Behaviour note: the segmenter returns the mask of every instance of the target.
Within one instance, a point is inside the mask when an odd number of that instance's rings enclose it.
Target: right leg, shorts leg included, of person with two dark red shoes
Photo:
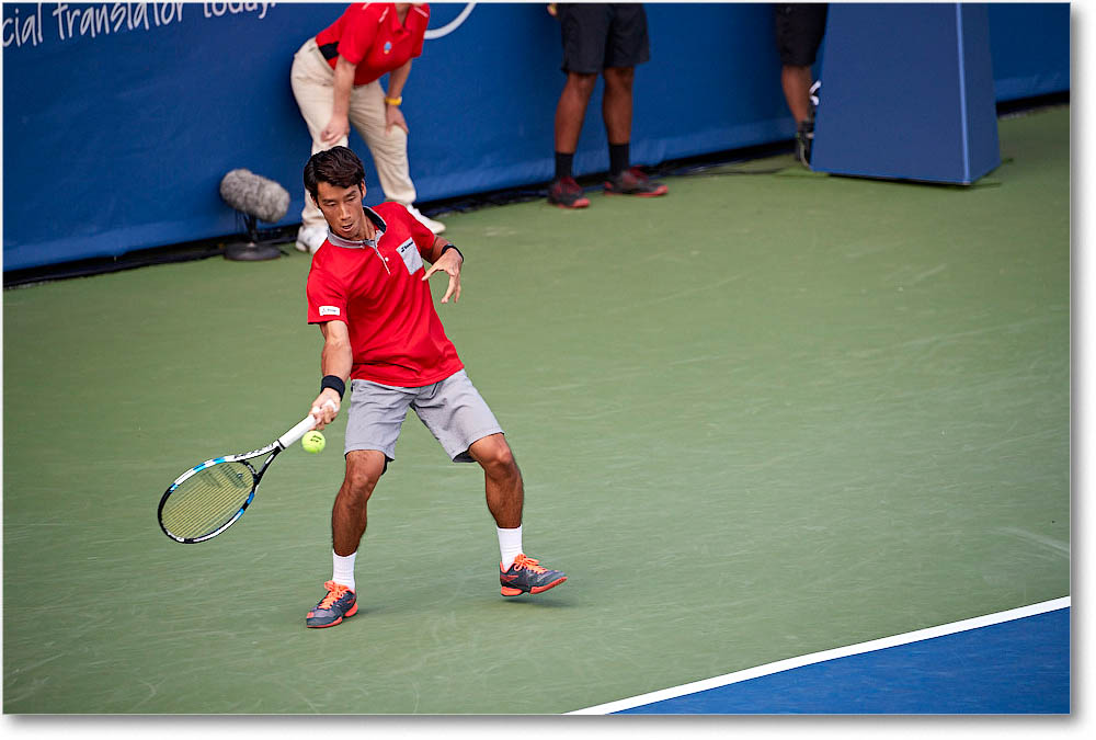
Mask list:
[[[609,144],[609,177],[605,192],[617,195],[665,195],[667,187],[653,183],[631,167],[632,87],[636,67],[651,58],[643,5],[615,4],[605,48],[605,96],[602,118]]]

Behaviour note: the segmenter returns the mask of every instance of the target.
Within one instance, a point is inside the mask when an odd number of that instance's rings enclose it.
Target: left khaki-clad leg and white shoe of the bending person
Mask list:
[[[317,48],[316,39],[309,38],[293,57],[289,84],[312,138],[313,155],[330,148],[320,141],[320,132],[331,121],[331,107],[334,104],[333,81],[334,72]],[[346,146],[346,138],[330,146],[336,145]],[[323,219],[323,214],[312,203],[308,191],[305,191],[305,207],[300,212],[297,249],[302,252],[315,252],[327,236],[328,224]]]

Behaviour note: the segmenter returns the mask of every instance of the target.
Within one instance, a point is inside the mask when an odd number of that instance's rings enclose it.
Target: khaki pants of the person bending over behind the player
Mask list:
[[[312,136],[312,153],[331,146],[346,146],[346,137],[334,145],[320,143],[320,132],[331,121],[334,104],[334,70],[320,54],[316,38],[305,42],[293,57],[289,81],[293,96],[297,99],[300,114],[308,124]],[[403,205],[415,200],[414,183],[411,182],[411,167],[408,163],[408,135],[402,128],[392,126],[385,132],[385,91],[379,81],[357,86],[350,93],[350,123],[365,140],[373,153],[377,179],[385,197]],[[368,185],[368,183],[366,183]],[[327,227],[323,214],[305,193],[305,208],[300,212],[302,226]]]

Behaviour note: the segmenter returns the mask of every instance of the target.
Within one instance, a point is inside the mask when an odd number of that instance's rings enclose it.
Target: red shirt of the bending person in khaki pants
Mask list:
[[[430,5],[411,5],[401,24],[391,2],[358,2],[316,36],[316,45],[335,68],[339,57],[352,65],[354,84],[368,84],[422,54]],[[324,49],[328,46],[328,49]],[[331,49],[338,52],[333,56]]]

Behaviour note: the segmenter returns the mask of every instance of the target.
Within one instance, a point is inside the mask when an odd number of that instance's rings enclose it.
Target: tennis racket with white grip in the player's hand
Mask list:
[[[175,478],[156,512],[163,534],[179,543],[201,543],[236,524],[251,505],[259,481],[278,453],[315,426],[316,419],[308,414],[265,447],[214,457]],[[256,470],[263,455],[269,457]]]

